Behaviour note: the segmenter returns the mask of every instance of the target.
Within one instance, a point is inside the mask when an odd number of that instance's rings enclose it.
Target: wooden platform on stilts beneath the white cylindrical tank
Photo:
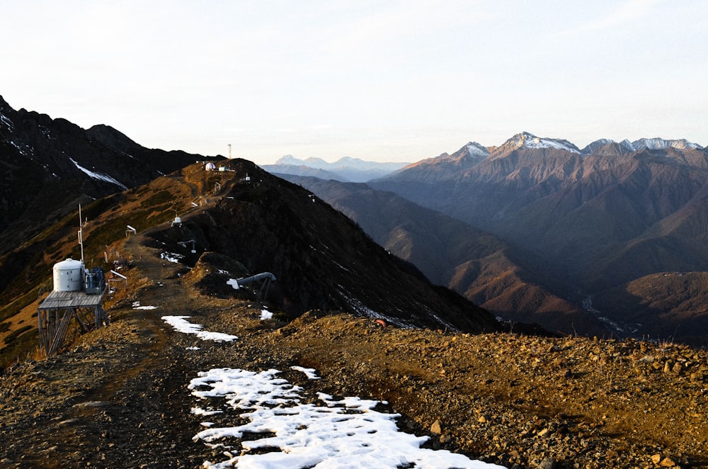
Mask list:
[[[110,322],[103,310],[103,293],[89,295],[84,291],[53,290],[38,308],[40,346],[47,356],[57,353],[72,320],[83,332],[107,326]]]

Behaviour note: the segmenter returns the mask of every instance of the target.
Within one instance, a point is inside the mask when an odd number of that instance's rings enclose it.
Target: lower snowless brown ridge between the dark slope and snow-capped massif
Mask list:
[[[559,286],[558,278],[564,276],[561,271],[530,253],[515,252],[489,233],[364,183],[282,177],[341,210],[378,244],[410,261],[433,283],[452,288],[497,317],[537,322],[565,333],[582,329],[589,334],[610,334],[600,320],[572,303],[574,295],[549,290]]]

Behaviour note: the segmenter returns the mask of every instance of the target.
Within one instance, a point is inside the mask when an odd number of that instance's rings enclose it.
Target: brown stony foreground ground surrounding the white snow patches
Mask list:
[[[109,327],[0,375],[0,466],[196,468],[223,460],[192,437],[198,371],[277,368],[307,392],[389,402],[404,431],[508,468],[708,468],[708,353],[678,344],[452,334],[309,312],[259,320],[203,295],[193,274],[130,239],[130,283]],[[135,305],[154,305],[137,310]],[[239,336],[200,341],[162,315]],[[195,353],[190,346],[199,346]],[[290,366],[316,368],[306,380]],[[316,386],[316,387],[315,387]]]

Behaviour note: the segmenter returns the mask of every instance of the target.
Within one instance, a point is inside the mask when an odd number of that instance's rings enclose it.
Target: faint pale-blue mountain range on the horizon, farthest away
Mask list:
[[[261,167],[270,173],[314,176],[343,182],[365,182],[386,176],[407,164],[367,162],[352,157],[343,157],[328,163],[320,158],[297,159],[287,155],[278,159],[275,164],[265,164]]]

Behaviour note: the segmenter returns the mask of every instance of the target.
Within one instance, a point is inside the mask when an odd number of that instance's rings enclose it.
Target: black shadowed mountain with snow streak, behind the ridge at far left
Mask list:
[[[0,97],[0,254],[59,221],[79,202],[152,181],[205,159],[141,147],[107,125],[84,130]]]

